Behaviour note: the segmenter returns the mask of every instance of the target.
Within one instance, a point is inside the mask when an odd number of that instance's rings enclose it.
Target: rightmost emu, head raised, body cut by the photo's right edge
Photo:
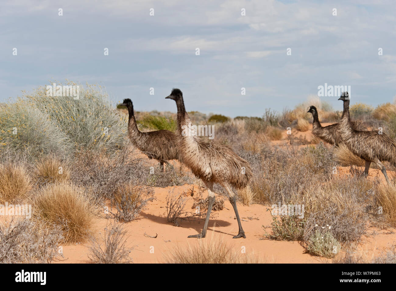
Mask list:
[[[381,169],[386,182],[390,184],[386,169],[381,163],[396,161],[396,142],[385,133],[377,131],[359,131],[353,128],[349,116],[348,92],[341,95],[338,100],[344,102],[345,114],[340,122],[340,136],[346,147],[356,156],[366,161],[364,176],[367,177],[371,163],[375,163]]]

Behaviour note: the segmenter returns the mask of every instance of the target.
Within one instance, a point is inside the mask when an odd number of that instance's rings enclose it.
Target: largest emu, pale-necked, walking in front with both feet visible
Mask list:
[[[200,234],[188,237],[205,237],[210,212],[215,201],[213,183],[219,183],[227,190],[238,221],[239,232],[233,238],[246,238],[236,207],[237,196],[232,187],[244,188],[247,186],[253,175],[249,163],[235,154],[228,146],[206,143],[202,141],[201,137],[198,137],[195,128],[191,126],[190,117],[184,107],[183,93],[180,89],[172,89],[171,94],[165,98],[176,101],[179,160],[205,183],[209,194],[208,213],[206,214],[204,228]]]

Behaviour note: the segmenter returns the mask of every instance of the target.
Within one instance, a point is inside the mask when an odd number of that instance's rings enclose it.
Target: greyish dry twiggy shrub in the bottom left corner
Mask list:
[[[63,240],[57,226],[45,226],[36,219],[0,223],[0,263],[50,263]]]

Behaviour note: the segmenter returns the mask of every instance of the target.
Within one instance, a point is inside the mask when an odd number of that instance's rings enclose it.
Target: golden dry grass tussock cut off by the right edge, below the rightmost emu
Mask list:
[[[396,226],[396,187],[379,184],[376,194],[377,202],[382,207],[381,210],[386,217],[386,221],[390,225]]]

